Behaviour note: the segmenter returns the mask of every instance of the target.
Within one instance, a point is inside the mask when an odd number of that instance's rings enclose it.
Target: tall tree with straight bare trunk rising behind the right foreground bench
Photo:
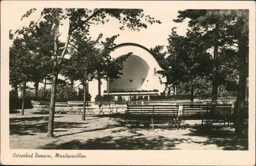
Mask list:
[[[220,45],[220,39],[223,36],[220,36],[221,31],[224,29],[224,26],[227,23],[225,17],[223,17],[223,12],[226,10],[184,10],[179,11],[177,19],[174,19],[175,22],[183,22],[184,19],[189,18],[188,26],[201,27],[205,33],[205,40],[209,45],[214,47],[214,70],[212,77],[212,101],[217,100],[218,96],[218,81],[219,81],[219,60],[218,53]]]

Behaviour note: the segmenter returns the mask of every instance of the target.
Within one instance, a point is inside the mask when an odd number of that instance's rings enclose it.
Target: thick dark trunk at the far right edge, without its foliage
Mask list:
[[[235,134],[237,137],[243,136],[243,125],[244,125],[244,106],[246,96],[246,53],[248,52],[246,41],[243,39],[242,31],[239,33],[239,88],[236,107],[234,109],[235,118]]]

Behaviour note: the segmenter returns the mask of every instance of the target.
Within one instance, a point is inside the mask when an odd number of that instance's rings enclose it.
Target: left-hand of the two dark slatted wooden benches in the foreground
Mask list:
[[[177,105],[127,105],[125,111],[125,125],[129,125],[129,122],[142,121],[147,122],[147,126],[154,124],[156,120],[167,120],[172,121],[178,118],[178,107]],[[146,124],[144,124],[145,126]]]

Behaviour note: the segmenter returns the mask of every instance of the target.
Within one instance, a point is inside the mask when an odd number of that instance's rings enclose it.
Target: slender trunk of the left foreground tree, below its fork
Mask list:
[[[53,75],[53,79],[52,79],[52,93],[51,93],[49,122],[48,122],[48,137],[53,137],[54,110],[55,110],[55,100],[56,100],[56,92],[57,92],[57,79],[58,79],[58,71],[54,71],[54,75]]]

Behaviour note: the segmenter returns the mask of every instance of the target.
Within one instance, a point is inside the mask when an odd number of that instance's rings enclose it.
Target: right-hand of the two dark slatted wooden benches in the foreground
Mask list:
[[[226,121],[228,125],[232,117],[232,104],[181,104],[182,114],[179,121],[186,120],[201,120],[206,121],[208,125],[208,120],[224,120],[224,126]],[[180,122],[179,122],[180,125]]]

